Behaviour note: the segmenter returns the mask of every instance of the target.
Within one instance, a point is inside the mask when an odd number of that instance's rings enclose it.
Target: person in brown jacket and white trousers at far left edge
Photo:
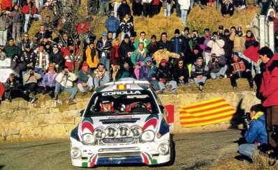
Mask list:
[[[6,45],[8,36],[8,26],[10,25],[10,17],[6,10],[0,14],[0,46]]]

